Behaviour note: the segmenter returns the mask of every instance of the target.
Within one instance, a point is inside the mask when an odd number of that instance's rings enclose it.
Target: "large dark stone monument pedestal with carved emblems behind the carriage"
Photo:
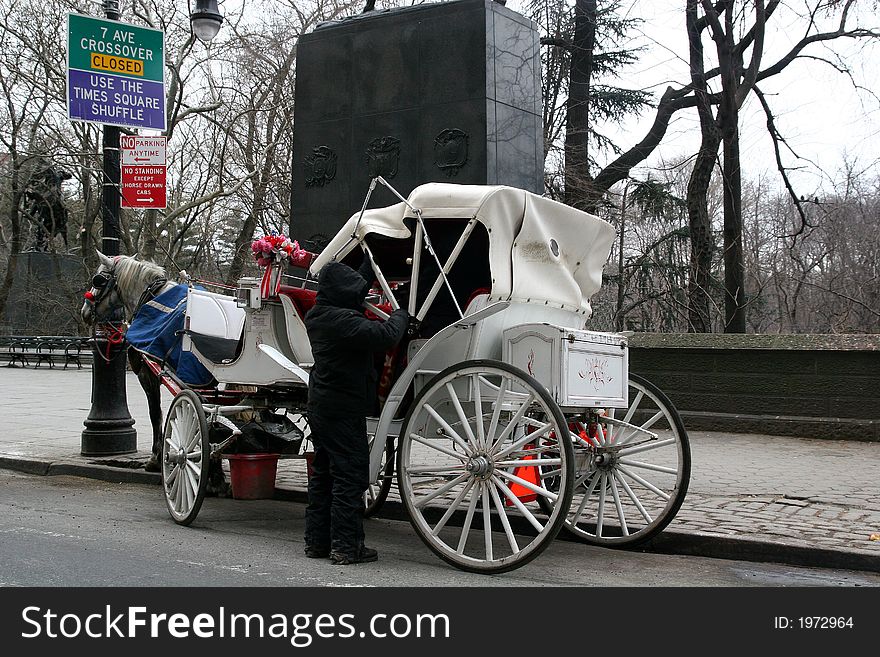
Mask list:
[[[456,0],[324,23],[298,45],[290,235],[323,248],[381,175],[543,192],[537,26]],[[397,203],[379,187],[370,207]]]

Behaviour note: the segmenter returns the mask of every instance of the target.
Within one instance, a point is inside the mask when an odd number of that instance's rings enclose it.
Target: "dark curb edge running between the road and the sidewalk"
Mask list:
[[[97,479],[120,484],[153,484],[160,485],[161,475],[158,472],[144,472],[126,467],[109,465],[75,463],[70,461],[46,462],[36,459],[0,456],[0,469],[14,470],[33,475],[70,475]],[[289,488],[276,488],[273,500],[282,502],[308,502],[306,491]],[[375,516],[382,520],[400,520],[409,522],[409,516],[403,504],[396,500],[386,500]],[[455,522],[455,516],[449,524]],[[529,533],[530,526],[522,528]],[[579,542],[578,539],[563,529],[556,540]],[[629,552],[649,552],[677,556],[707,557],[711,559],[733,559],[759,563],[782,563],[806,568],[837,568],[841,570],[858,570],[880,573],[880,557],[860,552],[845,552],[831,548],[816,548],[772,540],[754,540],[747,538],[731,538],[716,536],[704,532],[682,532],[665,529],[644,545],[632,548],[614,548]]]

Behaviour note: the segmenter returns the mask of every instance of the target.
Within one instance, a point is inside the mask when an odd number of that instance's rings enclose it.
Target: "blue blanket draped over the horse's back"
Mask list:
[[[176,285],[142,305],[125,338],[133,348],[170,367],[184,383],[208,386],[214,377],[194,354],[181,349],[186,289],[186,285]]]

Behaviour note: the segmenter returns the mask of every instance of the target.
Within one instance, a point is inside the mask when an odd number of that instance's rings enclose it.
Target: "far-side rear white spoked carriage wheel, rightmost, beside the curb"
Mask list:
[[[568,417],[575,478],[565,527],[593,545],[632,547],[663,531],[681,507],[690,444],[672,402],[636,374],[629,376],[629,408],[608,414],[626,424]],[[553,473],[544,474],[552,489]]]

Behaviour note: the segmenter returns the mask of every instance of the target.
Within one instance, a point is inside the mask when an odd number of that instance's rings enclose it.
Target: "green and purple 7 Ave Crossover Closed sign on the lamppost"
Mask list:
[[[67,115],[165,130],[165,33],[67,15]]]

